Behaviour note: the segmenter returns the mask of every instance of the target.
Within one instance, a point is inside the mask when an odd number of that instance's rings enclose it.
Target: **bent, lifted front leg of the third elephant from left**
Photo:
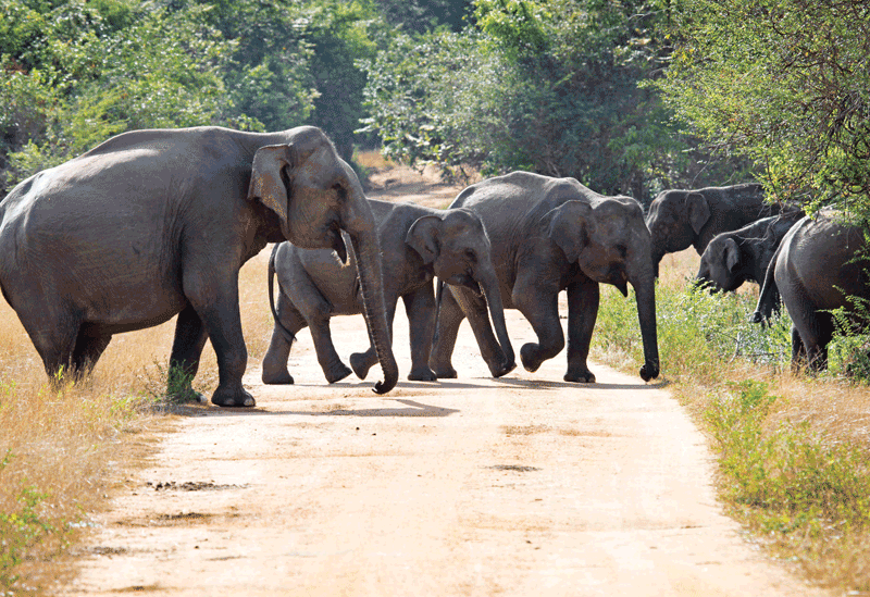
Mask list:
[[[513,304],[532,324],[537,344],[527,343],[520,349],[520,360],[526,371],[534,372],[540,363],[552,359],[564,348],[564,333],[559,322],[558,290],[539,285],[537,272],[523,273],[513,285]]]

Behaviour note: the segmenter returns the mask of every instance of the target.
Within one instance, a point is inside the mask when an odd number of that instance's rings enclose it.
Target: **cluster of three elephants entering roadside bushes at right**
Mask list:
[[[865,234],[833,210],[808,216],[767,203],[758,185],[737,185],[664,191],[647,224],[654,259],[694,245],[701,256],[696,279],[711,290],[759,284],[753,322],[767,321],[782,301],[793,322],[795,370],[826,368],[834,310],[844,308],[856,325],[868,323],[855,309],[856,300],[870,299]]]

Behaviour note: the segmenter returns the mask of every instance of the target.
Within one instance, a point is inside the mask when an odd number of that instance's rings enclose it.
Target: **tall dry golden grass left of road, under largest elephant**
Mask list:
[[[269,249],[239,276],[249,365],[262,358],[272,329]],[[55,556],[87,532],[123,471],[150,455],[154,432],[183,413],[160,400],[174,324],[115,336],[89,378],[55,391],[14,311],[0,301],[0,595],[55,584],[66,573],[52,563]],[[194,386],[210,396],[216,383],[207,344]]]

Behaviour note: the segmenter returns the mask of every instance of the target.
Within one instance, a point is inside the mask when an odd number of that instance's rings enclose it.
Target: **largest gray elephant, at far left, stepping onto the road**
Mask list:
[[[238,271],[268,242],[332,247],[360,277],[385,380],[389,345],[374,220],[353,171],[314,127],[135,130],[16,186],[0,203],[0,285],[50,378],[90,371],[114,334],[177,314],[170,363],[217,356],[212,402],[251,407],[241,386]],[[198,396],[189,381],[181,393]]]

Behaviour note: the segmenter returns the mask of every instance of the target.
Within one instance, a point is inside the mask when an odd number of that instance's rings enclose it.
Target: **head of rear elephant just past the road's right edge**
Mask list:
[[[700,192],[664,190],[652,200],[646,225],[652,237],[652,265],[657,276],[661,258],[695,244],[710,215],[710,204]]]

